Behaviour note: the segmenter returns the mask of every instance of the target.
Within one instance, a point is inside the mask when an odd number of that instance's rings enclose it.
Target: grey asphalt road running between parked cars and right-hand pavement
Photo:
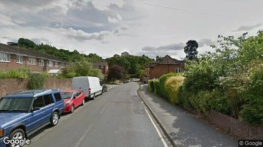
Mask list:
[[[26,147],[171,147],[136,95],[138,87],[134,81],[109,89],[41,129]]]

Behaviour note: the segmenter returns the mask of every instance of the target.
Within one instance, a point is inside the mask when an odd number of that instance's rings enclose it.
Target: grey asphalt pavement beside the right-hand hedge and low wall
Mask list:
[[[156,97],[144,85],[139,96],[150,109],[172,145],[177,147],[238,147],[238,142],[201,122],[179,106]]]

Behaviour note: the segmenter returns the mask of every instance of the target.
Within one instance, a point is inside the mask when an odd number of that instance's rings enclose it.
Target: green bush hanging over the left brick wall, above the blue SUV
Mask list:
[[[46,81],[45,73],[29,73],[30,87],[29,89],[42,89]]]

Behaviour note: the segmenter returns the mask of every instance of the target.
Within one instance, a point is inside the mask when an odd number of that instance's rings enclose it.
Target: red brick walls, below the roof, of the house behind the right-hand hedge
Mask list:
[[[154,68],[150,68],[150,79],[159,78],[165,73],[175,73],[175,68],[181,68],[181,72],[184,72],[181,65],[155,65]]]

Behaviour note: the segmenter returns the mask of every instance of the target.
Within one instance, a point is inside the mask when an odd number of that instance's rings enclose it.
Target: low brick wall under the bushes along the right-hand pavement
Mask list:
[[[206,119],[237,139],[263,139],[263,125],[254,126],[214,110],[210,111]]]

